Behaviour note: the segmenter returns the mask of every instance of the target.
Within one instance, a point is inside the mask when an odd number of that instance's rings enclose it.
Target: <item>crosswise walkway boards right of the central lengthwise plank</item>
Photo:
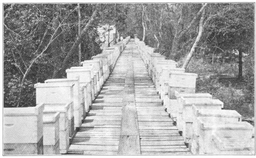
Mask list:
[[[133,54],[135,103],[141,154],[190,154],[182,136],[165,112],[138,52]]]

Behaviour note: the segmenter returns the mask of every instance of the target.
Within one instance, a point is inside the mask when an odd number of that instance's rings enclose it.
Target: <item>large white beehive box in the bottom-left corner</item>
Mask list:
[[[44,105],[3,108],[3,154],[40,155]]]

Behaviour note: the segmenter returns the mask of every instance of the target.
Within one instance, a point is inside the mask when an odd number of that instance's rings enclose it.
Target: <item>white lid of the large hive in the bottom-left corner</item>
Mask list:
[[[40,110],[43,110],[44,104],[37,104],[33,107],[4,107],[4,116],[30,116],[38,115]]]

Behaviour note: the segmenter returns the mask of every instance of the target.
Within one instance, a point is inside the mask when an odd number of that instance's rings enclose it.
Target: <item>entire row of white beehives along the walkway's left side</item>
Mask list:
[[[129,39],[67,69],[67,78],[35,84],[35,107],[4,108],[4,155],[65,154]]]

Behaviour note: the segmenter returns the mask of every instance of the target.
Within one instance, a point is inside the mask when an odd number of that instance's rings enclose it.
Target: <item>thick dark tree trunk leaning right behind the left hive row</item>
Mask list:
[[[61,63],[61,68],[59,70],[56,70],[53,72],[52,78],[57,77],[58,73],[65,69],[68,66],[68,60],[71,57],[72,54],[75,53],[75,50],[77,48],[77,46],[79,45],[80,41],[81,41],[81,37],[87,32],[87,30],[89,29],[89,27],[92,25],[93,21],[96,18],[98,12],[98,7],[96,5],[95,10],[93,11],[90,20],[88,21],[88,23],[85,25],[85,27],[83,28],[83,30],[81,31],[81,34],[78,35],[76,41],[73,43],[73,46],[71,47],[71,49],[68,51],[65,59],[63,60],[63,62]]]

